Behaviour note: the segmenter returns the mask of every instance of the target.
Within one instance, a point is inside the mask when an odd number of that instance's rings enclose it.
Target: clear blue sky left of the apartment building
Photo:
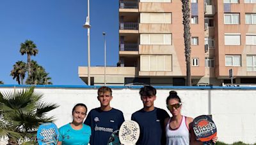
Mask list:
[[[78,66],[87,66],[87,0],[1,0],[0,1],[0,80],[17,84],[10,71],[21,55],[20,43],[31,39],[54,85],[85,85]],[[104,65],[106,32],[107,66],[118,62],[118,1],[90,0],[91,66]]]

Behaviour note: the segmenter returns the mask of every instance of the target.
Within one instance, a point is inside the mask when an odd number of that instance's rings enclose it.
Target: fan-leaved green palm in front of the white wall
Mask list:
[[[54,117],[46,113],[58,105],[43,101],[43,94],[34,87],[13,92],[0,92],[0,138],[8,142],[33,141],[41,123],[52,122]]]

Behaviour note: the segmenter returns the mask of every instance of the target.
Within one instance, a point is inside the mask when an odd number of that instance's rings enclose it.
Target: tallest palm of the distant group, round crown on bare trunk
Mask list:
[[[26,40],[24,43],[20,44],[20,53],[21,55],[27,54],[28,55],[28,77],[31,75],[31,55],[36,56],[38,53],[38,49],[36,45],[31,40]]]

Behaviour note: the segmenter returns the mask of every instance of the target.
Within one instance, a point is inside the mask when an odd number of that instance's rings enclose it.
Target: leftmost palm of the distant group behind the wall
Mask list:
[[[18,84],[23,85],[23,79],[25,78],[26,74],[26,63],[22,61],[18,61],[13,65],[13,70],[11,71],[11,76],[13,76],[13,79],[16,78],[16,81],[18,81]]]

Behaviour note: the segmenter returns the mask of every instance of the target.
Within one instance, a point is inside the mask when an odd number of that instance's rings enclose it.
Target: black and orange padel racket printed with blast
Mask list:
[[[196,138],[204,144],[213,144],[211,141],[217,135],[217,128],[212,119],[207,115],[201,115],[193,120],[193,130]]]

